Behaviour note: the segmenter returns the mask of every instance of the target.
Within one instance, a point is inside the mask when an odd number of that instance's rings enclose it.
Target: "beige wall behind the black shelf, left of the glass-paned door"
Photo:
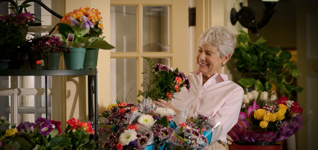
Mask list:
[[[103,17],[105,40],[109,42],[110,23],[110,2],[109,0],[67,0],[65,1],[65,13],[69,13],[80,7],[90,7],[99,9]],[[110,52],[109,50],[100,50],[98,55],[98,102],[99,104],[108,104],[110,102]],[[87,108],[87,77],[86,76],[68,76],[66,77],[66,101],[64,103],[64,120],[72,117],[84,121],[88,119]]]

